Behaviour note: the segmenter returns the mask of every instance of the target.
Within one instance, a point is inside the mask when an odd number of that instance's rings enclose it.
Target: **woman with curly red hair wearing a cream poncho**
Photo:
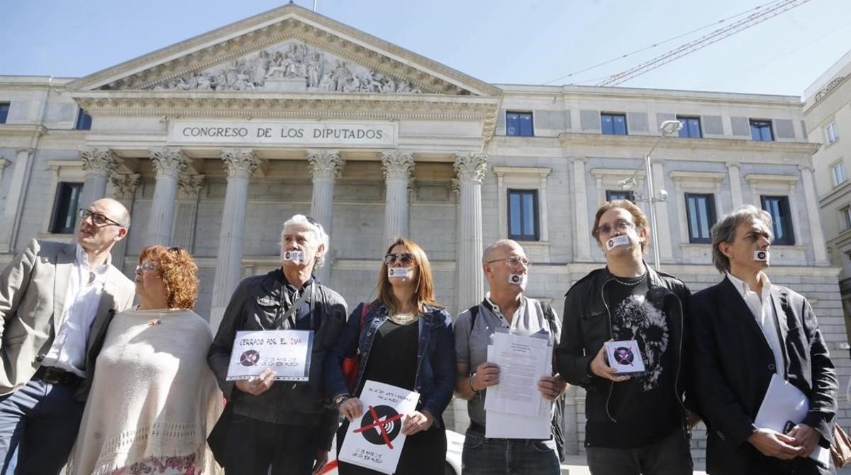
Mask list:
[[[140,305],[106,329],[71,472],[220,472],[206,449],[221,392],[207,365],[212,331],[191,310],[197,266],[184,249],[150,246],[135,282]]]

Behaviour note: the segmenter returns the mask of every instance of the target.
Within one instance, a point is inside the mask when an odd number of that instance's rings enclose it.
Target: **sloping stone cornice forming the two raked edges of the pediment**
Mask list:
[[[488,83],[292,3],[95,72],[72,82],[69,89],[120,89],[125,84],[141,89],[294,38],[384,74],[404,77],[423,90],[500,94]]]

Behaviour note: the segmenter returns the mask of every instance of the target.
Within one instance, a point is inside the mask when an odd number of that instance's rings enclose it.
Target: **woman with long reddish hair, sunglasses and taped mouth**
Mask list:
[[[420,402],[403,418],[402,432],[408,438],[396,473],[443,473],[442,415],[455,380],[452,318],[434,300],[431,266],[419,245],[402,237],[391,244],[381,265],[378,292],[378,299],[351,312],[326,359],[328,394],[346,416],[337,432],[337,447],[343,444],[349,423],[363,415],[358,396],[366,381],[403,387],[419,392]],[[355,354],[360,358],[355,389],[350,392],[343,360]],[[342,475],[378,473],[342,461],[339,470]]]

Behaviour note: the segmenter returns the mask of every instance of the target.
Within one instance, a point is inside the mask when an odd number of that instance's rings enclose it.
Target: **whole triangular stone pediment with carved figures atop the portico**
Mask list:
[[[68,84],[77,91],[499,95],[474,77],[290,3]]]

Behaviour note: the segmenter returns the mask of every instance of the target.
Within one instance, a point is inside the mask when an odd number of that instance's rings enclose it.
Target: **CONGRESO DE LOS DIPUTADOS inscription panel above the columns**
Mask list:
[[[396,123],[352,122],[224,122],[174,120],[168,143],[227,146],[397,146]]]

